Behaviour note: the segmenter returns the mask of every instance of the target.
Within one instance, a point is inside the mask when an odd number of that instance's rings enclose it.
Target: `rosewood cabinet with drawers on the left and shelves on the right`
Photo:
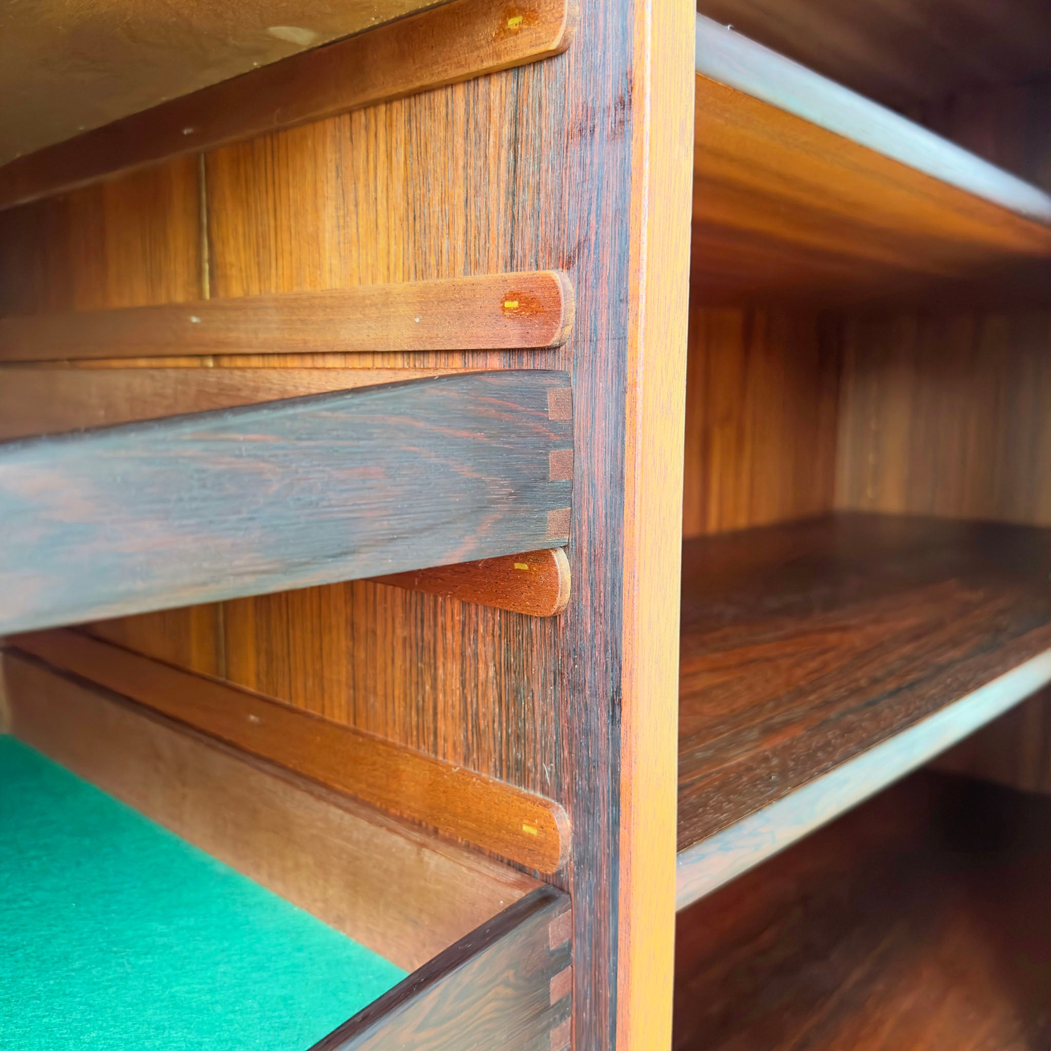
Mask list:
[[[317,1047],[1044,1039],[1044,6],[350,6],[0,167],[8,731]]]

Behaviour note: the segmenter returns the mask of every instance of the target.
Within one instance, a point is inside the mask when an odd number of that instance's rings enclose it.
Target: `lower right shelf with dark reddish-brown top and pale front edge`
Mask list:
[[[683,553],[679,907],[1051,681],[1051,531],[843,514]]]

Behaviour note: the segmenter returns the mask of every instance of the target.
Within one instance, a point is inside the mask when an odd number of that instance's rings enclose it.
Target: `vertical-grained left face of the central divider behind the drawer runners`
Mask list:
[[[638,955],[618,959],[616,926],[627,849],[619,802],[624,411],[644,375],[626,372],[631,297],[642,287],[631,267],[643,259],[631,249],[632,197],[644,185],[642,169],[633,168],[642,120],[633,85],[652,42],[635,42],[642,11],[635,0],[578,6],[574,43],[549,61],[208,152],[203,173],[188,166],[193,207],[178,231],[141,208],[132,214],[145,173],[0,213],[0,312],[536,269],[569,274],[576,324],[544,364],[573,376],[575,445],[588,452],[574,463],[580,498],[566,552],[574,598],[561,616],[355,581],[222,603],[210,647],[170,621],[95,630],[157,653],[176,648],[177,636],[185,651],[197,639],[195,657],[210,648],[236,684],[559,802],[578,844],[573,864],[552,878],[576,906],[573,1039],[578,1051],[605,1051],[616,1038],[618,968],[645,975]],[[662,119],[671,112],[663,106]],[[660,194],[647,200],[655,206]],[[147,235],[152,253],[139,251]],[[667,254],[644,259],[659,287]],[[177,272],[193,274],[188,292],[165,290]],[[357,356],[217,355],[211,364],[540,364],[519,351]]]

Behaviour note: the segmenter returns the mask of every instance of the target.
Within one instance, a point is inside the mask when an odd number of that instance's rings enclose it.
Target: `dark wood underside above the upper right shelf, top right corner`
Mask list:
[[[905,112],[1051,74],[1043,0],[698,0],[697,9]]]

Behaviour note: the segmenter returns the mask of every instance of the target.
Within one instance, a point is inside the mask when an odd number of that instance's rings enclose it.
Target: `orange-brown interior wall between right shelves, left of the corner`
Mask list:
[[[683,536],[832,509],[839,347],[819,315],[691,310]]]

